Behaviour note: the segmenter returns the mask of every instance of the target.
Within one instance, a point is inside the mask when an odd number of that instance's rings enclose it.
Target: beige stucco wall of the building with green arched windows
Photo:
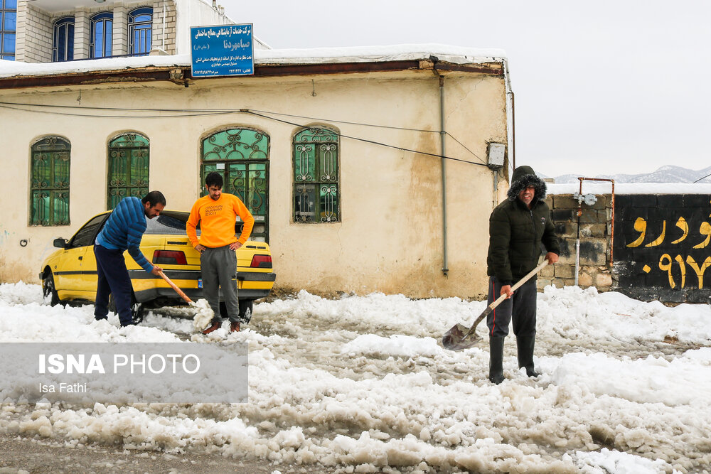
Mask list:
[[[313,82],[312,82],[313,80]],[[487,141],[506,143],[503,79],[453,73],[445,80],[447,131],[486,161]],[[314,95],[315,92],[315,95]],[[81,102],[77,102],[81,93]],[[3,102],[82,107],[257,109],[314,119],[343,135],[439,153],[439,134],[384,129],[343,120],[439,130],[439,83],[431,71],[316,77],[200,80],[0,90]],[[67,109],[71,114],[118,114]],[[52,239],[70,237],[105,209],[107,142],[122,131],[151,140],[150,188],[164,192],[167,208],[189,210],[198,198],[201,137],[230,126],[270,136],[269,244],[277,286],[314,292],[404,293],[407,296],[480,296],[486,286],[487,222],[496,173],[448,161],[449,274],[442,274],[440,160],[342,138],[341,222],[292,222],[292,136],[298,127],[250,114],[181,118],[96,118],[0,108],[4,190],[0,206],[0,280],[38,283]],[[48,134],[72,144],[70,219],[66,227],[30,227],[30,147]],[[447,139],[447,155],[479,161]],[[499,195],[506,187],[499,177]],[[21,239],[28,245],[21,247]]]

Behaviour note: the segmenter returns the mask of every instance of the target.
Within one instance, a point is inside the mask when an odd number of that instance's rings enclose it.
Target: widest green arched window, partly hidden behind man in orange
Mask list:
[[[223,191],[236,195],[255,217],[251,240],[269,242],[269,135],[252,129],[229,129],[205,137],[200,166],[201,196],[205,176],[223,175]]]

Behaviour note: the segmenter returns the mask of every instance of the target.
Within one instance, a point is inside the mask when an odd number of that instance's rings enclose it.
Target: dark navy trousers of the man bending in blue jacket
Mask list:
[[[94,245],[96,256],[96,271],[98,281],[96,286],[96,303],[94,318],[106,319],[109,313],[109,294],[114,296],[116,311],[119,313],[121,325],[133,322],[131,314],[131,277],[126,269],[123,250],[113,250]]]

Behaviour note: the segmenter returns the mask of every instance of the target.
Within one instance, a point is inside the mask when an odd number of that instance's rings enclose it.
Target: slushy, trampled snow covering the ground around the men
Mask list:
[[[0,342],[250,346],[245,404],[2,404],[0,431],[70,446],[199,451],[353,472],[711,472],[711,310],[619,293],[548,287],[538,298],[536,362],[488,382],[488,342],[439,341],[486,303],[404,296],[255,305],[247,330],[196,335],[190,310],[137,327],[92,306],[48,306],[41,288],[0,285]],[[479,327],[485,333],[485,325]]]

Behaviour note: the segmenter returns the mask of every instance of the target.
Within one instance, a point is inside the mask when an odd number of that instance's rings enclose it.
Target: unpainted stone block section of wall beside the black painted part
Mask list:
[[[575,241],[578,232],[578,201],[570,194],[549,195],[545,199],[551,210],[551,218],[560,238],[560,260],[553,266],[547,266],[538,276],[538,288],[554,285],[572,286],[575,284]],[[580,268],[578,286],[597,287],[598,291],[614,289],[611,274],[610,235],[611,235],[611,198],[609,195],[597,195],[597,203],[592,206],[582,204],[580,216]]]

